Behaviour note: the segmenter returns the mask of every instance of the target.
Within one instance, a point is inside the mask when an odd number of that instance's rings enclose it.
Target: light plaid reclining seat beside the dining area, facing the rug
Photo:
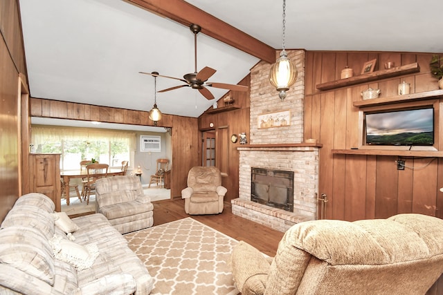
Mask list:
[[[96,212],[120,234],[152,227],[154,205],[137,176],[113,176],[96,181]]]

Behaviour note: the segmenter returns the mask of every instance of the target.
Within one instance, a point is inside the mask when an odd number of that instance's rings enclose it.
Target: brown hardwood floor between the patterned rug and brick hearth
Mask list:
[[[179,198],[156,201],[152,204],[154,204],[154,226],[191,217],[231,238],[235,238],[235,240],[244,240],[269,256],[275,256],[278,242],[284,234],[235,216],[231,211],[230,204],[226,203],[223,212],[215,215],[188,215],[185,213],[184,200]]]

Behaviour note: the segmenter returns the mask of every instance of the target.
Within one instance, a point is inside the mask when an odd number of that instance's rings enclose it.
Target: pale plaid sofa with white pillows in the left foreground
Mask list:
[[[102,214],[60,222],[54,207],[29,193],[1,223],[0,294],[150,294],[154,279]]]

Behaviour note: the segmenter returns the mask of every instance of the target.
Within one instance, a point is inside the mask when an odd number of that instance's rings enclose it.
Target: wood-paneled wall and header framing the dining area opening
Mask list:
[[[154,126],[148,112],[108,106],[93,106],[61,102],[53,99],[30,99],[32,117],[100,121],[120,124]],[[159,127],[172,127],[171,196],[181,197],[186,188],[188,171],[199,162],[199,135],[197,118],[163,114]]]

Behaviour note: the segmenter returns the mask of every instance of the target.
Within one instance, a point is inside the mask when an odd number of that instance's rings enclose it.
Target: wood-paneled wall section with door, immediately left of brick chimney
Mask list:
[[[246,76],[239,82],[240,85],[250,86],[251,85],[251,75]],[[235,99],[232,106],[236,109],[232,111],[223,111],[226,106],[224,105],[223,98],[226,96],[231,96]],[[217,157],[216,166],[228,167],[227,175],[223,175],[221,182],[228,192],[224,198],[224,202],[230,204],[230,200],[238,198],[238,180],[239,180],[239,151],[237,147],[240,145],[239,140],[236,143],[230,141],[230,136],[236,134],[239,137],[239,133],[246,132],[246,136],[249,137],[249,106],[250,106],[250,93],[229,91],[221,97],[218,102],[217,110],[213,110],[211,107],[203,115],[199,117],[199,129],[200,131],[214,130],[217,131],[219,128],[225,129],[227,127],[228,132],[216,133],[216,150]],[[229,109],[229,108],[226,108]],[[211,113],[217,111],[217,113]],[[210,127],[209,124],[213,123],[214,126]],[[227,138],[219,138],[223,135]],[[201,133],[199,140],[199,164],[201,165]],[[225,169],[224,169],[225,170]]]

